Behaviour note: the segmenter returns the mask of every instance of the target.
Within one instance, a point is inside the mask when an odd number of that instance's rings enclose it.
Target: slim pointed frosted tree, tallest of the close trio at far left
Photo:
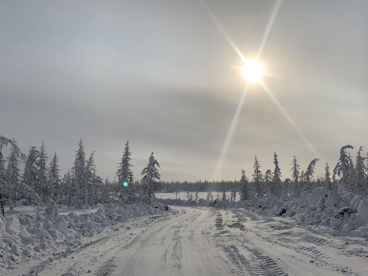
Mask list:
[[[46,148],[42,141],[42,145],[40,147],[37,160],[36,160],[36,172],[37,172],[37,181],[35,183],[35,191],[39,194],[42,201],[45,201],[47,198],[47,155]]]

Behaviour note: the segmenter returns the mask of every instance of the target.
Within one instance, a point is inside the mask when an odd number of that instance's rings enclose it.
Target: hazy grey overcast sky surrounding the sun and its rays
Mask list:
[[[205,3],[247,59],[256,56],[273,1]],[[290,177],[339,149],[368,147],[368,1],[283,1],[260,58],[263,77],[319,156],[258,83],[245,99],[220,178],[251,176],[279,155]],[[129,139],[134,174],[151,152],[163,180],[211,179],[245,87],[242,61],[195,0],[1,1],[0,135],[22,151],[56,151],[70,169],[82,137],[113,178]],[[366,148],[368,149],[368,148]],[[8,149],[4,153],[8,154]]]

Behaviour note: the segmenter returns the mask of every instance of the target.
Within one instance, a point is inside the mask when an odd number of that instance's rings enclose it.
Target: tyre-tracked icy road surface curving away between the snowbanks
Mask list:
[[[368,275],[365,241],[346,244],[244,210],[173,209],[178,215],[50,258],[31,275]]]

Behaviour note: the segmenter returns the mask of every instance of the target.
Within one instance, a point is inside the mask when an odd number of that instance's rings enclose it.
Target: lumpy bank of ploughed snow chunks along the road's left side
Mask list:
[[[166,216],[168,211],[167,206],[155,202],[123,207],[109,204],[91,213],[59,215],[52,222],[37,220],[28,213],[7,219],[0,215],[0,272],[22,258],[45,256],[48,251],[70,252],[82,245],[82,237],[93,237],[106,229],[114,230],[118,223],[141,216]]]

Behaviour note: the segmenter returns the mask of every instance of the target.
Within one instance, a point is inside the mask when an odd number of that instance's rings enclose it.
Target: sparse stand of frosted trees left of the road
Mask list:
[[[6,158],[4,149],[9,148]],[[160,189],[160,166],[153,152],[142,179],[135,180],[131,171],[129,141],[125,144],[121,163],[117,164],[113,180],[101,178],[94,164],[94,152],[86,155],[83,141],[79,140],[71,170],[61,174],[59,158],[53,153],[47,157],[45,142],[40,148],[30,146],[28,155],[18,148],[15,139],[0,136],[0,195],[1,212],[20,205],[45,206],[45,217],[57,217],[58,206],[77,209],[95,208],[98,204],[117,203],[120,206],[138,202],[150,203]],[[24,163],[24,171],[20,164]],[[124,183],[128,185],[125,186]]]

